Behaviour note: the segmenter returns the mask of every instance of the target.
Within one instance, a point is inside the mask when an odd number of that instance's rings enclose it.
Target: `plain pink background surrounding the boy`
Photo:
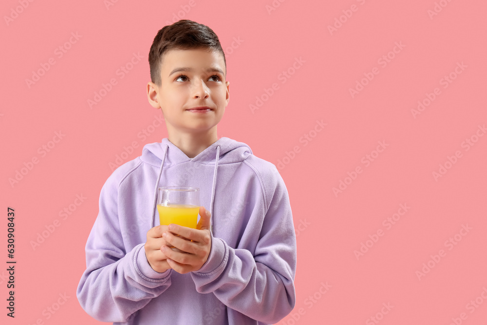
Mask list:
[[[110,163],[167,136],[147,101],[147,57],[174,15],[208,25],[225,49],[231,96],[218,135],[280,166],[288,188],[297,302],[279,324],[485,324],[486,2],[108,1],[0,6],[1,324],[99,324],[75,296],[84,246]],[[143,58],[131,66],[134,53]],[[413,114],[418,101],[428,106]],[[7,207],[15,319],[5,309]]]

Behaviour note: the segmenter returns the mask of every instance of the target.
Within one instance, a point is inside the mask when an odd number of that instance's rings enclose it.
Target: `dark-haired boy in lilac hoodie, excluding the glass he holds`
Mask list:
[[[217,137],[229,100],[220,41],[180,20],[157,33],[149,63],[148,99],[168,138],[103,186],[78,300],[115,324],[277,323],[296,302],[288,193],[273,164]],[[161,186],[200,188],[198,229],[158,225]]]

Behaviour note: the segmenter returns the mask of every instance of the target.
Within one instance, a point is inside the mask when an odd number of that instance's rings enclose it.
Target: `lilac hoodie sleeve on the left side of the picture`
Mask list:
[[[76,296],[102,322],[126,322],[171,284],[170,270],[154,271],[144,245],[126,251],[118,222],[118,181],[112,174],[100,193],[100,210],[86,243],[86,270]]]

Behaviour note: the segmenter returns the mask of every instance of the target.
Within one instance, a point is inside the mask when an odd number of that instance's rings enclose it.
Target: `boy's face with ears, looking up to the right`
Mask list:
[[[153,107],[161,108],[169,135],[201,134],[212,131],[222,119],[229,84],[219,52],[171,50],[162,57],[161,86],[149,82],[148,98]]]

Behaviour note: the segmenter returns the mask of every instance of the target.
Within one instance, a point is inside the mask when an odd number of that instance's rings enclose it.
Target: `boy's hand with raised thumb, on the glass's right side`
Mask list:
[[[210,254],[210,212],[200,207],[199,213],[201,218],[197,229],[170,224],[169,230],[162,233],[166,240],[166,246],[161,248],[162,253],[167,256],[165,262],[181,274],[199,270]],[[170,246],[174,246],[177,250],[170,249]]]

